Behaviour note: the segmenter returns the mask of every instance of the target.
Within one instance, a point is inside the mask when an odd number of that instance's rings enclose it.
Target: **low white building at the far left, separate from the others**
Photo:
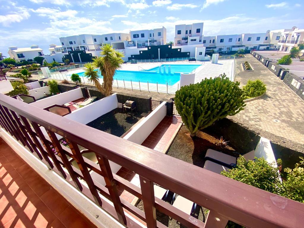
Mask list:
[[[38,45],[32,45],[30,47],[9,47],[9,57],[16,60],[16,62],[29,61],[32,62],[37,56],[43,56],[43,49]]]

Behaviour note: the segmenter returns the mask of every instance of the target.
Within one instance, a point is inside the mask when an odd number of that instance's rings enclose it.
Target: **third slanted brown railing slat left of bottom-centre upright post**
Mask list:
[[[77,175],[75,174],[73,168],[72,168],[72,165],[71,163],[69,162],[69,160],[67,159],[67,156],[64,152],[64,150],[62,149],[61,147],[61,144],[60,142],[58,141],[57,139],[57,136],[54,132],[47,130],[47,134],[48,136],[50,137],[52,143],[53,143],[53,146],[56,148],[57,152],[58,152],[58,155],[59,157],[61,158],[61,160],[63,161],[63,164],[64,164],[64,167],[67,169],[67,171],[69,172],[72,180],[74,181],[74,184],[76,185],[76,187],[82,191],[82,185],[77,177]]]

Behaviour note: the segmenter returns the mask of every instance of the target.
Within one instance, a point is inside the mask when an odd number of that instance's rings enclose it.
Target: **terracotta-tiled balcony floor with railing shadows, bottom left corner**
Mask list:
[[[0,227],[96,227],[0,138]]]

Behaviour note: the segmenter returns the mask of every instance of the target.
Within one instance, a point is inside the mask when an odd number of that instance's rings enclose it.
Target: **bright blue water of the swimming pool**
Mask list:
[[[180,79],[180,74],[177,72],[183,72],[183,73],[190,73],[199,65],[170,65],[170,64],[163,64],[161,65],[162,67],[162,72],[163,67],[166,66],[167,68],[167,73],[159,73],[159,67],[154,67],[149,70],[145,71],[116,71],[116,74],[114,75],[114,80],[125,80],[125,81],[141,81],[141,82],[147,82],[149,83],[156,83],[158,84],[166,84],[167,82],[172,85],[177,83]],[[168,66],[171,66],[171,74],[168,74]],[[78,73],[79,76],[84,76],[84,72]],[[100,75],[100,73],[99,73]],[[100,76],[102,78],[102,75]]]

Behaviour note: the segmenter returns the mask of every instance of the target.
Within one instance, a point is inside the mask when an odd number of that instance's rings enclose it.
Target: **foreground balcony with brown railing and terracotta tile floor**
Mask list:
[[[187,227],[224,228],[228,220],[245,227],[302,227],[304,204],[2,94],[0,125],[7,143],[0,142],[2,226],[163,228],[161,212]],[[112,173],[113,163],[124,175]],[[199,220],[162,200],[160,188],[208,209],[208,216]],[[141,199],[144,211],[122,193]]]

